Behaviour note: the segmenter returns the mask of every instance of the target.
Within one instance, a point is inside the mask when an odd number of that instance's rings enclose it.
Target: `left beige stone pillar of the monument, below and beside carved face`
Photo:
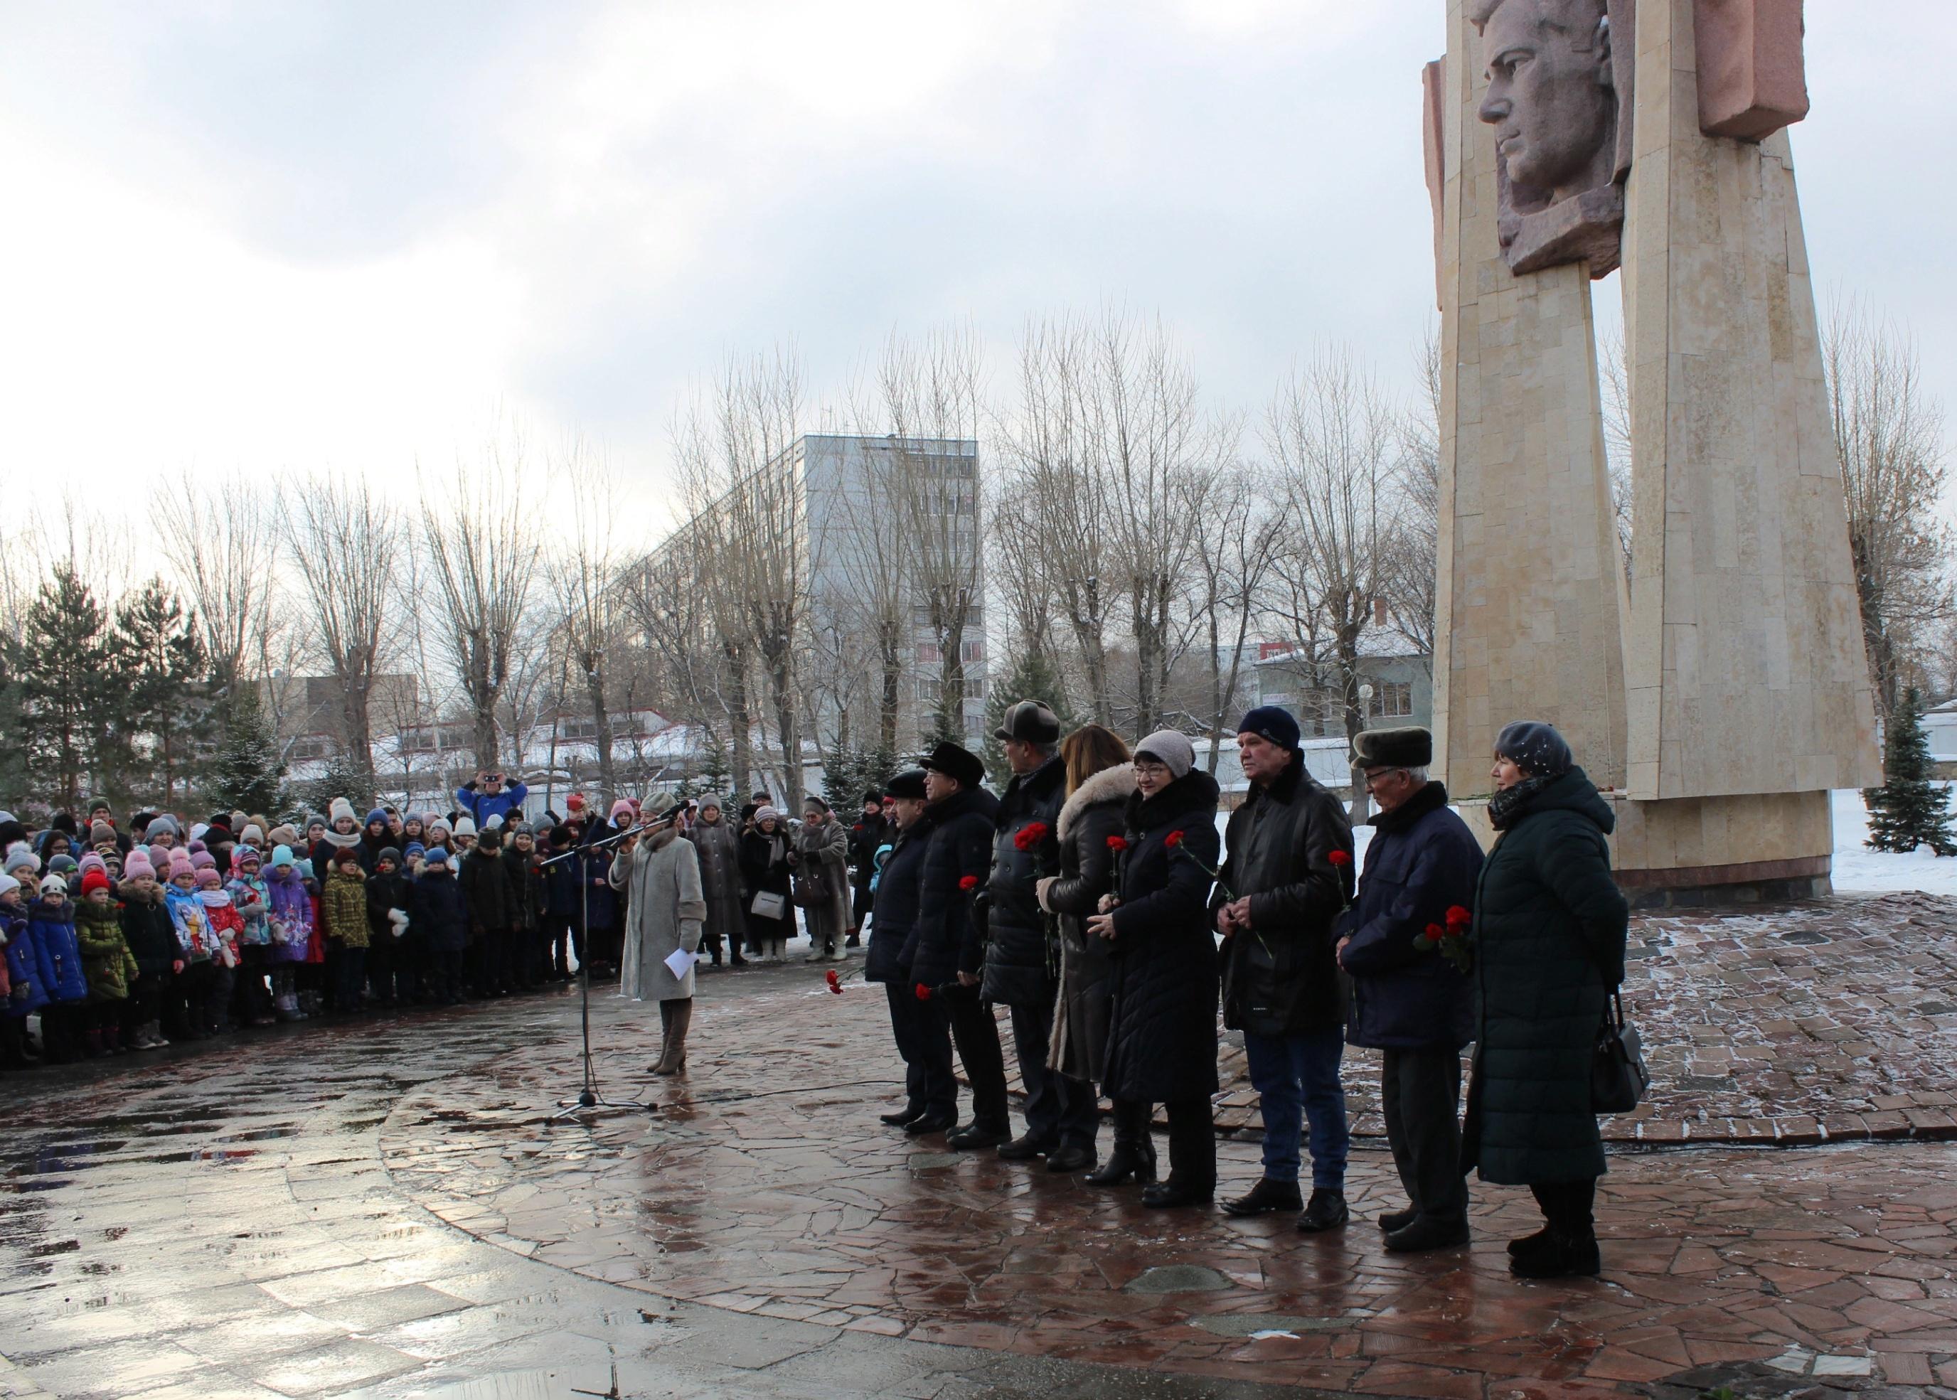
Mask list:
[[[1436,766],[1489,791],[1515,719],[1556,724],[1599,787],[1624,775],[1624,580],[1611,519],[1589,266],[1501,255],[1479,35],[1448,4],[1440,88]]]

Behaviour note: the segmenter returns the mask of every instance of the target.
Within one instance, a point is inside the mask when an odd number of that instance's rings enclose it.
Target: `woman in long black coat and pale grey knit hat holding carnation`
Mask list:
[[[1168,1181],[1145,1206],[1215,1198],[1217,946],[1209,932],[1209,871],[1217,867],[1217,785],[1174,730],[1135,746],[1127,848],[1115,893],[1088,920],[1114,959],[1114,1010],[1104,1089],[1115,1102],[1168,1108]]]

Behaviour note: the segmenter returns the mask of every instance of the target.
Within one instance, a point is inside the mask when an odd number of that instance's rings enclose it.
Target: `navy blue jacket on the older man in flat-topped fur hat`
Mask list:
[[[1474,1038],[1474,987],[1434,948],[1417,948],[1448,909],[1474,907],[1481,846],[1429,783],[1374,818],[1366,873],[1337,938],[1352,973],[1346,1042],[1374,1050],[1460,1050]]]

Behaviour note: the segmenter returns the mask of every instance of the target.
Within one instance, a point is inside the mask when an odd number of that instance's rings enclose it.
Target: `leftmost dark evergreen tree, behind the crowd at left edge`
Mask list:
[[[20,746],[31,785],[74,811],[119,699],[104,634],[108,613],[70,564],[41,583],[8,670],[20,693]]]

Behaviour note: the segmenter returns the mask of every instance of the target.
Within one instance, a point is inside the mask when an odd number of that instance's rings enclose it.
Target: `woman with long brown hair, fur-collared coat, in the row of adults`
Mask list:
[[[1088,938],[1088,920],[1100,910],[1102,895],[1114,891],[1108,838],[1125,838],[1135,770],[1127,744],[1100,724],[1082,724],[1061,740],[1061,762],[1067,764],[1067,801],[1057,820],[1061,873],[1039,881],[1039,907],[1061,922],[1061,995],[1049,1067],[1098,1085],[1108,1073],[1114,957],[1106,938]],[[1143,1185],[1155,1181],[1155,1142],[1149,1106],[1119,1098],[1114,1155],[1088,1173],[1088,1183],[1119,1187],[1129,1177]]]

